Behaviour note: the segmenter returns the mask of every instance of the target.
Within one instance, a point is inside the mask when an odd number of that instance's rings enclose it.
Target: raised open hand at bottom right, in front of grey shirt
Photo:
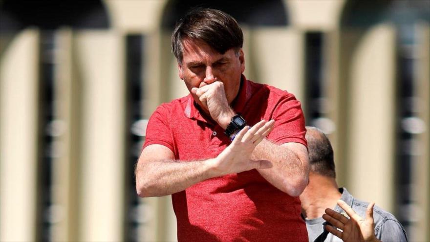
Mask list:
[[[366,219],[363,219],[343,200],[338,200],[338,205],[346,212],[349,219],[344,215],[327,208],[323,219],[332,225],[325,225],[325,229],[339,237],[344,242],[377,242],[375,237],[375,222],[373,220],[374,202],[367,206]],[[339,231],[338,229],[342,231]]]

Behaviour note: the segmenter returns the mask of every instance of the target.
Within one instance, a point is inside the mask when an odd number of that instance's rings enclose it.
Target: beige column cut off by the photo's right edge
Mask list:
[[[415,96],[417,98],[418,118],[415,120],[413,130],[415,130],[418,144],[412,148],[413,183],[416,184],[412,190],[414,204],[415,224],[412,226],[412,233],[409,234],[410,241],[430,241],[430,25],[422,22],[416,25],[417,28],[417,65],[415,76]]]

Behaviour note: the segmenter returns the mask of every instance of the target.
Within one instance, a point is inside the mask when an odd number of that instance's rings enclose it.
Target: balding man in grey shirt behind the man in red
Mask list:
[[[300,199],[309,241],[408,241],[405,229],[392,214],[338,187],[333,148],[327,136],[315,127],[306,127],[305,137],[310,173]]]

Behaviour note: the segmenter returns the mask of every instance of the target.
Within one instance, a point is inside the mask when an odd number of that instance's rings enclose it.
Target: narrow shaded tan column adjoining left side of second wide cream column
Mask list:
[[[74,74],[73,33],[64,28],[55,36],[54,121],[56,157],[52,167],[54,241],[77,241],[79,218],[80,80]]]

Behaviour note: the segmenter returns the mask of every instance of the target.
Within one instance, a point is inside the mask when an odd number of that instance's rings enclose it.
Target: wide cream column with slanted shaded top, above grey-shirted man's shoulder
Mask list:
[[[392,212],[395,134],[395,31],[369,29],[352,50],[347,125],[348,188]]]

